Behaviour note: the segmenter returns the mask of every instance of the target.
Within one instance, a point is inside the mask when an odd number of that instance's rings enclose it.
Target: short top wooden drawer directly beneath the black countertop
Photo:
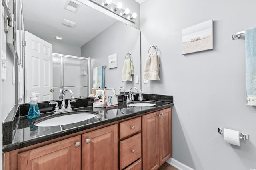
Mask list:
[[[120,123],[120,139],[132,135],[141,130],[141,117]]]

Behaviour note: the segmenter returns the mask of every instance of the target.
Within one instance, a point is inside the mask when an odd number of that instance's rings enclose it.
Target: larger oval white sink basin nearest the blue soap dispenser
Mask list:
[[[36,121],[34,125],[41,127],[67,125],[85,121],[95,116],[96,113],[93,113],[93,111],[70,111],[43,117]]]

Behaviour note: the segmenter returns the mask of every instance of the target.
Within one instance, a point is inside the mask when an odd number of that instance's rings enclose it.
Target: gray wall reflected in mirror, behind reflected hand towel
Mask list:
[[[129,52],[132,53],[134,76],[132,76],[132,82],[122,82],[124,58]],[[117,53],[117,68],[109,69],[108,56],[114,53]],[[140,89],[140,84],[135,83],[135,75],[140,76],[140,31],[138,29],[117,21],[83,45],[81,56],[91,57],[91,75],[94,67],[107,66],[104,70],[106,87],[114,88],[116,92],[121,86],[124,86],[126,91],[133,86]],[[91,84],[92,78],[93,76],[91,76]]]

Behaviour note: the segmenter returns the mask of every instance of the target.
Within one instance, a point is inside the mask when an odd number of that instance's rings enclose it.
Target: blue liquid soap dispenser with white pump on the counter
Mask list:
[[[30,106],[28,110],[28,119],[34,119],[37,117],[41,117],[39,107],[37,104],[37,98],[36,98],[36,92],[31,92],[31,98],[30,98]]]

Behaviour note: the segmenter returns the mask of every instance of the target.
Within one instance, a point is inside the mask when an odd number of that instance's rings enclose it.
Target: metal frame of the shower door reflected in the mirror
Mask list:
[[[90,94],[90,89],[91,89],[91,58],[86,58],[86,57],[78,57],[74,55],[66,55],[66,54],[59,54],[59,53],[52,53],[52,57],[60,57],[60,88],[65,88],[64,86],[64,79],[62,80],[62,70],[63,70],[63,78],[65,77],[65,60],[64,57],[67,58],[72,58],[72,59],[82,59],[82,60],[87,60],[87,97]],[[62,64],[63,63],[63,64]],[[62,68],[63,67],[63,68]],[[62,86],[63,85],[63,86]],[[86,86],[84,86],[86,87]]]

